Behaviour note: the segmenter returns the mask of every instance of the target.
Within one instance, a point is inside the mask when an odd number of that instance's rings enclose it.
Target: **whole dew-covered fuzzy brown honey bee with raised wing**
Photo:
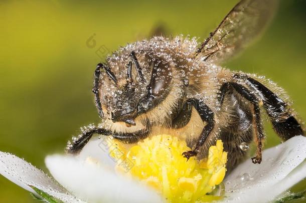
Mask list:
[[[240,143],[255,140],[252,161],[261,162],[263,110],[281,139],[304,135],[281,88],[219,66],[264,30],[276,6],[276,0],[242,0],[201,44],[160,36],[108,56],[95,69],[92,89],[102,122],[69,143],[68,152],[78,153],[95,133],[125,143],[167,133],[186,140],[187,160],[203,158],[221,139],[231,170],[246,156]]]

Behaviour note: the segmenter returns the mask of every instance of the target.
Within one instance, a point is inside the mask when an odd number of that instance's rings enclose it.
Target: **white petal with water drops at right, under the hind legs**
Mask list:
[[[306,177],[306,137],[266,149],[261,164],[250,159],[225,179],[226,202],[269,202]]]

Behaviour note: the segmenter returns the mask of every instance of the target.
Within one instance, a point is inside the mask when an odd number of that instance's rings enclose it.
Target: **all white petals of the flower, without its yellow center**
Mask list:
[[[46,165],[57,180],[15,155],[0,152],[0,173],[38,197],[64,202],[163,202],[154,190],[113,171],[115,162],[93,138],[78,156],[50,155]],[[306,177],[306,137],[296,136],[263,151],[224,180],[224,202],[269,202]],[[50,195],[50,196],[46,196]]]

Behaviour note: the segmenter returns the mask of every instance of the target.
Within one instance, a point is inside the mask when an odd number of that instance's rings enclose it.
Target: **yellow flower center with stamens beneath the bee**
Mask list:
[[[208,158],[198,161],[182,156],[191,150],[185,141],[171,135],[146,138],[125,149],[120,142],[112,141],[110,155],[118,159],[116,170],[138,178],[154,187],[169,202],[196,202],[219,199],[212,192],[225,176],[227,152],[218,140],[209,148]],[[118,157],[120,156],[120,157]]]

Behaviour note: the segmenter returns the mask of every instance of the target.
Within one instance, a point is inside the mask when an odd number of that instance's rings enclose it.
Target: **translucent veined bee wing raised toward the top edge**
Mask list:
[[[242,0],[210,33],[196,56],[222,63],[260,34],[273,17],[277,0]]]

